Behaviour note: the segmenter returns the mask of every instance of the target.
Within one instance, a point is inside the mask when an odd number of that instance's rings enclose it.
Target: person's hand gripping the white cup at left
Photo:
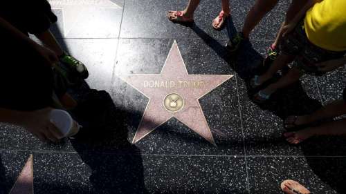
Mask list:
[[[42,142],[58,142],[64,135],[50,120],[52,108],[44,108],[27,113],[24,128]]]

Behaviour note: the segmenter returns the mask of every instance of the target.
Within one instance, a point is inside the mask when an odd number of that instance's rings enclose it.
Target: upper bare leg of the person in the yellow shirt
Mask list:
[[[277,56],[277,58],[273,61],[273,65],[266,72],[264,72],[263,75],[260,76],[260,83],[258,84],[262,84],[268,79],[271,79],[278,70],[282,69],[284,66],[291,63],[294,60],[294,58],[294,56],[285,54]]]

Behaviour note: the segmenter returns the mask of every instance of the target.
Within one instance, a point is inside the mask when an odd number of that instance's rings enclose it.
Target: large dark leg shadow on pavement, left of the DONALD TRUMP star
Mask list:
[[[92,170],[91,193],[147,193],[140,150],[127,137],[126,121],[134,114],[116,108],[105,91],[80,96],[72,115],[84,127],[71,143]]]

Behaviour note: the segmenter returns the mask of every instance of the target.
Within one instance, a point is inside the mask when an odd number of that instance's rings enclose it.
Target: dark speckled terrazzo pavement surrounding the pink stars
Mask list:
[[[345,138],[313,138],[300,146],[282,138],[284,117],[340,98],[345,69],[304,77],[267,106],[248,97],[245,83],[257,72],[289,1],[266,15],[236,57],[224,49],[227,30],[210,26],[219,12],[217,0],[201,2],[192,27],[165,17],[187,0],[112,1],[122,8],[95,7],[67,35],[63,10],[54,10],[60,21],[53,32],[91,73],[89,86],[72,90],[81,104],[73,115],[85,128],[76,139],[48,144],[1,124],[1,194],[10,191],[30,154],[35,193],[280,193],[285,179],[298,180],[313,193],[346,193]],[[253,3],[230,1],[237,30]],[[148,99],[116,75],[161,72],[174,40],[190,74],[235,75],[200,99],[217,146],[176,119],[129,144]]]

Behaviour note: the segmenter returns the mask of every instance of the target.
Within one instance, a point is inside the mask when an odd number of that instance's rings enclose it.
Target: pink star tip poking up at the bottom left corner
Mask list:
[[[33,155],[30,155],[23,170],[13,185],[10,194],[33,194],[34,193]]]

